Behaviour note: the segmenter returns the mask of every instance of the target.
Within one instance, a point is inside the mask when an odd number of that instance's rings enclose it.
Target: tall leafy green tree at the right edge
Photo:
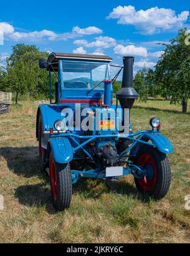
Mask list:
[[[190,98],[190,44],[187,29],[165,46],[164,54],[156,65],[156,80],[162,86],[162,94],[170,96],[172,103],[182,103],[182,112],[187,112]]]

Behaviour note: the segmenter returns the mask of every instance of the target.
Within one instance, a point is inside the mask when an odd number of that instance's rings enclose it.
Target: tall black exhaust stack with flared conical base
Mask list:
[[[122,89],[117,93],[117,99],[123,109],[132,108],[139,95],[133,87],[134,57],[124,57],[124,75]]]

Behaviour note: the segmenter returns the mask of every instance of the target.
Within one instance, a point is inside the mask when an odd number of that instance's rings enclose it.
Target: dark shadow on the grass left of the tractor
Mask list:
[[[46,205],[47,212],[54,214],[51,204],[49,177],[39,167],[39,151],[37,147],[0,148],[0,157],[7,161],[8,169],[18,176],[31,178],[37,176],[39,184],[20,186],[15,189],[18,202],[27,207]],[[49,188],[48,188],[49,187]]]

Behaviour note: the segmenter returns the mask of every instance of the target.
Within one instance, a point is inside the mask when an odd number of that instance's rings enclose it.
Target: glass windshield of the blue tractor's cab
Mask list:
[[[101,81],[110,79],[108,64],[63,61],[62,68],[65,89],[92,89]],[[96,89],[104,89],[103,82]]]

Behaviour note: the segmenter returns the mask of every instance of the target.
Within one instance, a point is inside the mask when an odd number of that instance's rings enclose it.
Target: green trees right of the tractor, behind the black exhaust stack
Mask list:
[[[134,77],[134,87],[141,101],[149,97],[162,96],[171,103],[182,104],[182,112],[187,113],[190,98],[190,34],[181,29],[177,37],[164,46],[163,54],[154,70],[143,68]],[[115,84],[117,93],[120,83]]]

